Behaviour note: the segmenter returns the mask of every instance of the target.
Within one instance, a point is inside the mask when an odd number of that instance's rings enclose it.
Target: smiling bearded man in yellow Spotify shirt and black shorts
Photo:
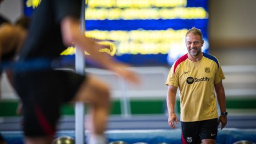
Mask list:
[[[202,52],[204,44],[201,30],[193,27],[187,31],[188,53],[175,61],[166,79],[168,85],[168,123],[176,129],[178,117],[174,113],[177,89],[180,91],[182,143],[216,143],[218,125],[227,124],[226,96],[219,61]],[[218,118],[217,94],[221,114]]]

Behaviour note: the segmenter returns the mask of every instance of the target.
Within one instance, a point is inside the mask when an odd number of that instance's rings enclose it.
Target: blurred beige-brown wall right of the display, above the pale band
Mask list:
[[[222,65],[256,65],[254,0],[210,0],[210,51]]]

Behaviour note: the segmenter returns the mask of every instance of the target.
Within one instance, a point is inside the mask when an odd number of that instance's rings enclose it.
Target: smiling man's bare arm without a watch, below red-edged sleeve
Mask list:
[[[178,124],[178,117],[176,116],[176,114],[174,112],[177,89],[178,89],[178,87],[175,87],[173,85],[169,85],[168,86],[168,91],[167,91],[167,98],[166,98],[168,115],[169,115],[168,124],[173,129],[177,128],[174,124],[174,121]]]

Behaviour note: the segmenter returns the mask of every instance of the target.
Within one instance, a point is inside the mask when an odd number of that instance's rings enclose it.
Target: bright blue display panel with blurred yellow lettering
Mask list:
[[[25,2],[25,14],[30,16],[38,2]],[[201,29],[202,51],[208,52],[208,18],[208,0],[90,0],[85,35],[111,45],[111,51],[101,52],[133,66],[171,65],[187,53],[185,35],[191,27]],[[68,47],[61,55],[74,52]]]

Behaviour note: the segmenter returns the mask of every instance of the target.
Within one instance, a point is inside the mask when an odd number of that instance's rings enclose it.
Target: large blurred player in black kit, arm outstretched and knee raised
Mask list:
[[[97,65],[138,83],[123,63],[98,52],[102,47],[79,29],[81,1],[43,0],[34,10],[27,40],[14,74],[14,87],[23,103],[25,143],[51,143],[62,102],[87,102],[90,108],[89,144],[107,143],[103,134],[110,106],[107,84],[88,75],[54,69],[54,61],[67,46],[90,53]]]

